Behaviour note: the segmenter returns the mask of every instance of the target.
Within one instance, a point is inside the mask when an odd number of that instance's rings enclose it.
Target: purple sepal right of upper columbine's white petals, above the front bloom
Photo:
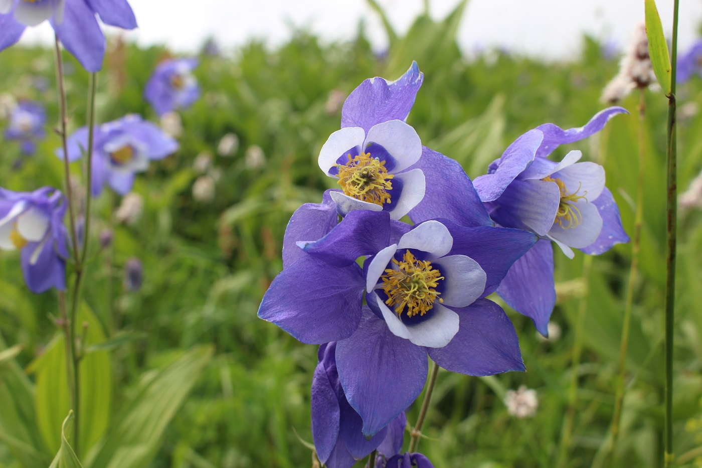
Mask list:
[[[409,212],[414,223],[447,218],[471,228],[493,226],[461,164],[423,146],[422,157],[411,169],[422,169],[426,179],[423,200]]]

